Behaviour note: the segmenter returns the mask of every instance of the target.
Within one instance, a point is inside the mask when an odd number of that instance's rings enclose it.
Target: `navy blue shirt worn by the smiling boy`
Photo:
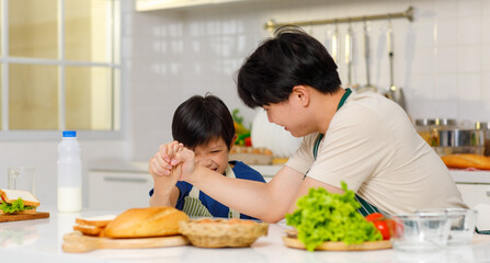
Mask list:
[[[233,170],[235,176],[237,179],[244,179],[244,180],[251,180],[251,181],[258,181],[258,182],[265,183],[265,180],[262,176],[262,174],[260,174],[258,171],[253,170],[249,165],[244,164],[243,162],[229,161],[229,163],[233,165],[232,170]],[[176,201],[175,208],[178,208],[179,210],[182,210],[184,207],[184,201],[185,201],[184,197],[189,196],[189,193],[191,192],[193,185],[187,182],[184,182],[184,181],[179,181],[175,186],[180,191],[180,195],[179,195],[179,199]],[[153,190],[150,191],[150,196],[151,195],[153,195]],[[209,197],[202,191],[200,191],[200,201],[203,203],[203,205],[209,210],[209,213],[214,217],[225,217],[225,218],[228,217],[229,208],[227,206],[223,205],[221,203],[213,199],[212,197]],[[240,214],[240,218],[241,219],[257,219],[257,218],[247,216],[244,214]]]

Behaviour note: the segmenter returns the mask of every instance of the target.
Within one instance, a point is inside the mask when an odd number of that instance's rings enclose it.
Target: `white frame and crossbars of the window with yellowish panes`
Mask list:
[[[1,140],[42,140],[42,139],[59,139],[60,133],[66,129],[66,82],[65,82],[65,69],[70,66],[82,66],[82,67],[105,67],[111,70],[112,87],[113,90],[113,111],[112,111],[112,130],[77,130],[77,136],[83,139],[121,139],[126,135],[126,122],[125,116],[127,116],[127,102],[126,102],[126,82],[123,81],[124,67],[122,67],[122,50],[123,39],[122,39],[122,16],[123,16],[123,4],[122,0],[111,0],[111,26],[112,26],[112,43],[111,43],[111,61],[110,62],[90,62],[90,61],[75,61],[66,60],[65,57],[65,1],[57,0],[58,2],[58,58],[57,59],[45,59],[45,58],[26,58],[26,57],[11,57],[9,56],[9,1],[11,0],[0,0],[1,1],[1,129],[0,129],[0,141]],[[118,4],[118,14],[116,14],[116,7]],[[114,23],[116,22],[117,23]],[[116,49],[115,44],[118,42],[119,47]],[[117,54],[118,64],[115,62]],[[9,129],[9,65],[10,64],[26,64],[26,65],[49,65],[58,66],[58,127],[59,129]],[[118,71],[118,80],[116,71]],[[115,101],[115,89],[117,89],[116,83],[118,83],[118,99]],[[118,113],[118,114],[116,114]],[[118,115],[118,116],[117,116]],[[118,117],[119,119],[116,119]],[[118,129],[115,126],[118,124]]]

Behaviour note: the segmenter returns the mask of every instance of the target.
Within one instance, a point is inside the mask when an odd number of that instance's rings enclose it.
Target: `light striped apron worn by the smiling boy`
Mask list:
[[[225,176],[235,179],[233,169],[230,165],[227,165],[225,170]],[[187,214],[190,217],[213,217],[206,206],[200,199],[201,191],[192,186],[191,192],[187,196],[184,197],[184,207],[183,211]],[[228,218],[240,218],[240,213],[229,208]]]

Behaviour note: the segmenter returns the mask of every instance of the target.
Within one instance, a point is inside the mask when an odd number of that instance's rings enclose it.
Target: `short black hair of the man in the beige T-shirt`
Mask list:
[[[340,89],[337,65],[324,46],[297,26],[282,26],[238,72],[238,94],[249,107],[287,101],[293,87],[332,94]]]

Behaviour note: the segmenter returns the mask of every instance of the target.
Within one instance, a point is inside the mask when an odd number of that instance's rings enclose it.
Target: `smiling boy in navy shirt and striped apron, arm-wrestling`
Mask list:
[[[173,141],[167,145],[168,152],[185,146],[195,152],[197,164],[224,178],[265,182],[259,172],[243,162],[228,161],[237,136],[231,114],[217,96],[195,95],[183,102],[173,115],[172,135],[180,144]],[[190,183],[178,182],[176,178],[153,175],[153,182],[151,206],[174,206],[195,217],[254,219],[229,209]]]

